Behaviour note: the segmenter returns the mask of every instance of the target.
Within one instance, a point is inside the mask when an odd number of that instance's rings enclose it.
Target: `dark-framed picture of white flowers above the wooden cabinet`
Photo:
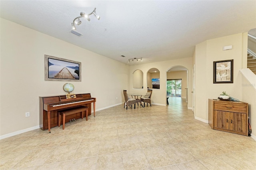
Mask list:
[[[233,83],[233,59],[213,61],[213,83]]]

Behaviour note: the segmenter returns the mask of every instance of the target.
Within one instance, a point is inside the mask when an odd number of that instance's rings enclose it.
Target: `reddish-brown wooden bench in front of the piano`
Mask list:
[[[65,129],[65,118],[68,115],[72,115],[75,113],[80,113],[81,112],[81,117],[82,119],[84,118],[84,113],[86,113],[86,121],[88,121],[88,107],[86,106],[80,106],[80,107],[75,107],[75,108],[71,108],[71,109],[65,109],[65,110],[59,110],[58,111],[58,127],[60,127],[60,118],[62,115],[62,124],[63,127],[62,129]]]

